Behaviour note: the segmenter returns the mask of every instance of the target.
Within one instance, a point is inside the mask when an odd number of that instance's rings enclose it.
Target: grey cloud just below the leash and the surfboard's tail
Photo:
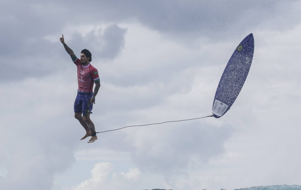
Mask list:
[[[139,168],[169,177],[183,173],[191,158],[206,163],[212,156],[221,154],[229,133],[229,129],[191,122],[136,129],[127,138],[128,144],[135,147],[132,159]]]

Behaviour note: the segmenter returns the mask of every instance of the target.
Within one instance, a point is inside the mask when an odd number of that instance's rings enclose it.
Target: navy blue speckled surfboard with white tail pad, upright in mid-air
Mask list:
[[[248,76],[254,53],[253,34],[243,39],[222,73],[213,101],[213,116],[222,117],[236,100]]]

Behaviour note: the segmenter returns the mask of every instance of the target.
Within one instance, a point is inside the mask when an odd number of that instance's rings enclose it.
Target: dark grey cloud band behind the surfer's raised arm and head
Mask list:
[[[108,25],[103,29],[103,34],[101,31],[101,29],[93,29],[85,37],[78,32],[72,33],[72,40],[66,40],[66,43],[78,57],[80,51],[87,48],[97,60],[114,59],[124,47],[126,29],[117,25]],[[65,36],[68,38],[68,35]],[[57,40],[55,42],[45,37],[25,37],[15,45],[13,54],[11,50],[3,49],[2,59],[8,64],[5,64],[5,69],[0,71],[0,79],[41,78],[67,68],[76,68],[58,40],[59,37],[55,38]],[[10,77],[11,73],[5,72],[7,70],[13,71],[14,77]]]

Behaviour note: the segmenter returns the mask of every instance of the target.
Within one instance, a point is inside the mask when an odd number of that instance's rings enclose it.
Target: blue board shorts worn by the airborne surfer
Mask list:
[[[74,113],[83,113],[86,115],[87,106],[89,106],[90,114],[92,114],[93,104],[88,105],[88,101],[92,97],[93,92],[77,92],[75,101],[74,101]]]

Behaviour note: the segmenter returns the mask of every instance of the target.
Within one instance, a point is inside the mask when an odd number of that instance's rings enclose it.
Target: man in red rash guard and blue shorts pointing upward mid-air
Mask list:
[[[81,140],[91,137],[88,143],[93,143],[97,140],[95,126],[90,119],[90,113],[92,113],[93,104],[95,104],[95,96],[100,88],[100,79],[98,76],[98,71],[93,67],[90,62],[92,61],[92,54],[89,50],[83,49],[80,53],[80,59],[77,58],[70,49],[65,41],[64,35],[60,37],[65,50],[71,56],[72,61],[77,66],[77,81],[78,90],[74,101],[74,117],[79,120],[79,123],[86,130],[86,134],[81,138]],[[93,85],[95,83],[95,88],[93,92]]]

